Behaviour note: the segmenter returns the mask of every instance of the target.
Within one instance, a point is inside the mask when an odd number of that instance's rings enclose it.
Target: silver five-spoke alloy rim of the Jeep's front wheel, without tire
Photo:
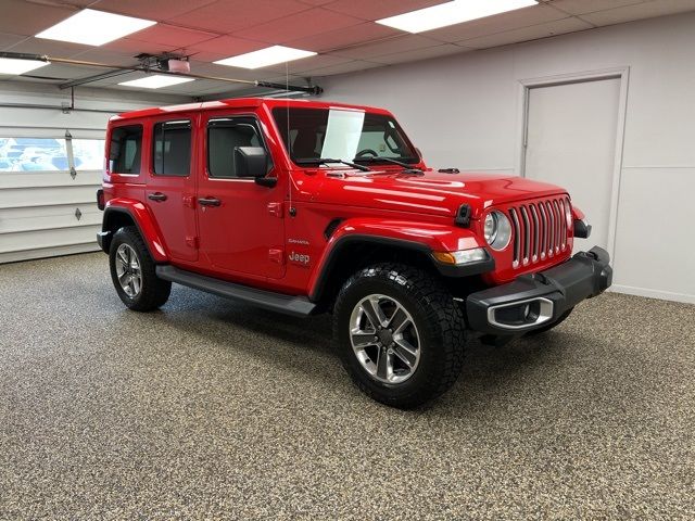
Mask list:
[[[420,361],[420,336],[395,298],[368,295],[350,317],[350,342],[363,369],[383,383],[403,383]]]

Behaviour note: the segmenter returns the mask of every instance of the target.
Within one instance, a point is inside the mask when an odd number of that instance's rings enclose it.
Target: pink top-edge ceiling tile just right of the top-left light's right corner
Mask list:
[[[218,0],[167,20],[187,27],[229,34],[309,9],[295,0]]]

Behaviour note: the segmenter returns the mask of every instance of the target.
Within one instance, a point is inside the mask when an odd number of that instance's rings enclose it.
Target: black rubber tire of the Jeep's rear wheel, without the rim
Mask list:
[[[137,295],[129,296],[118,281],[116,272],[116,252],[122,244],[129,245],[135,252],[140,265],[141,288]],[[111,280],[123,303],[134,312],[152,312],[160,308],[168,300],[172,292],[172,282],[162,280],[155,275],[154,259],[134,226],[121,228],[111,241],[109,250],[109,267]]]

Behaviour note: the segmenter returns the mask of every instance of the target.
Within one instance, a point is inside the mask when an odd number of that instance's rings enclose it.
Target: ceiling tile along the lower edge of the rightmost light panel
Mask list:
[[[547,5],[533,5],[494,16],[472,20],[463,24],[442,27],[441,29],[428,30],[427,33],[421,33],[421,35],[435,40],[454,42],[468,38],[488,36],[503,30],[544,24],[566,17],[566,13],[548,8]]]

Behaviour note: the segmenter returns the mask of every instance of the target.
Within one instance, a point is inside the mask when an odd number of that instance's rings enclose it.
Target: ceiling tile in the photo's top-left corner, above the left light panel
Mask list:
[[[77,9],[72,7],[37,5],[23,0],[2,0],[0,33],[34,36],[76,12]]]

